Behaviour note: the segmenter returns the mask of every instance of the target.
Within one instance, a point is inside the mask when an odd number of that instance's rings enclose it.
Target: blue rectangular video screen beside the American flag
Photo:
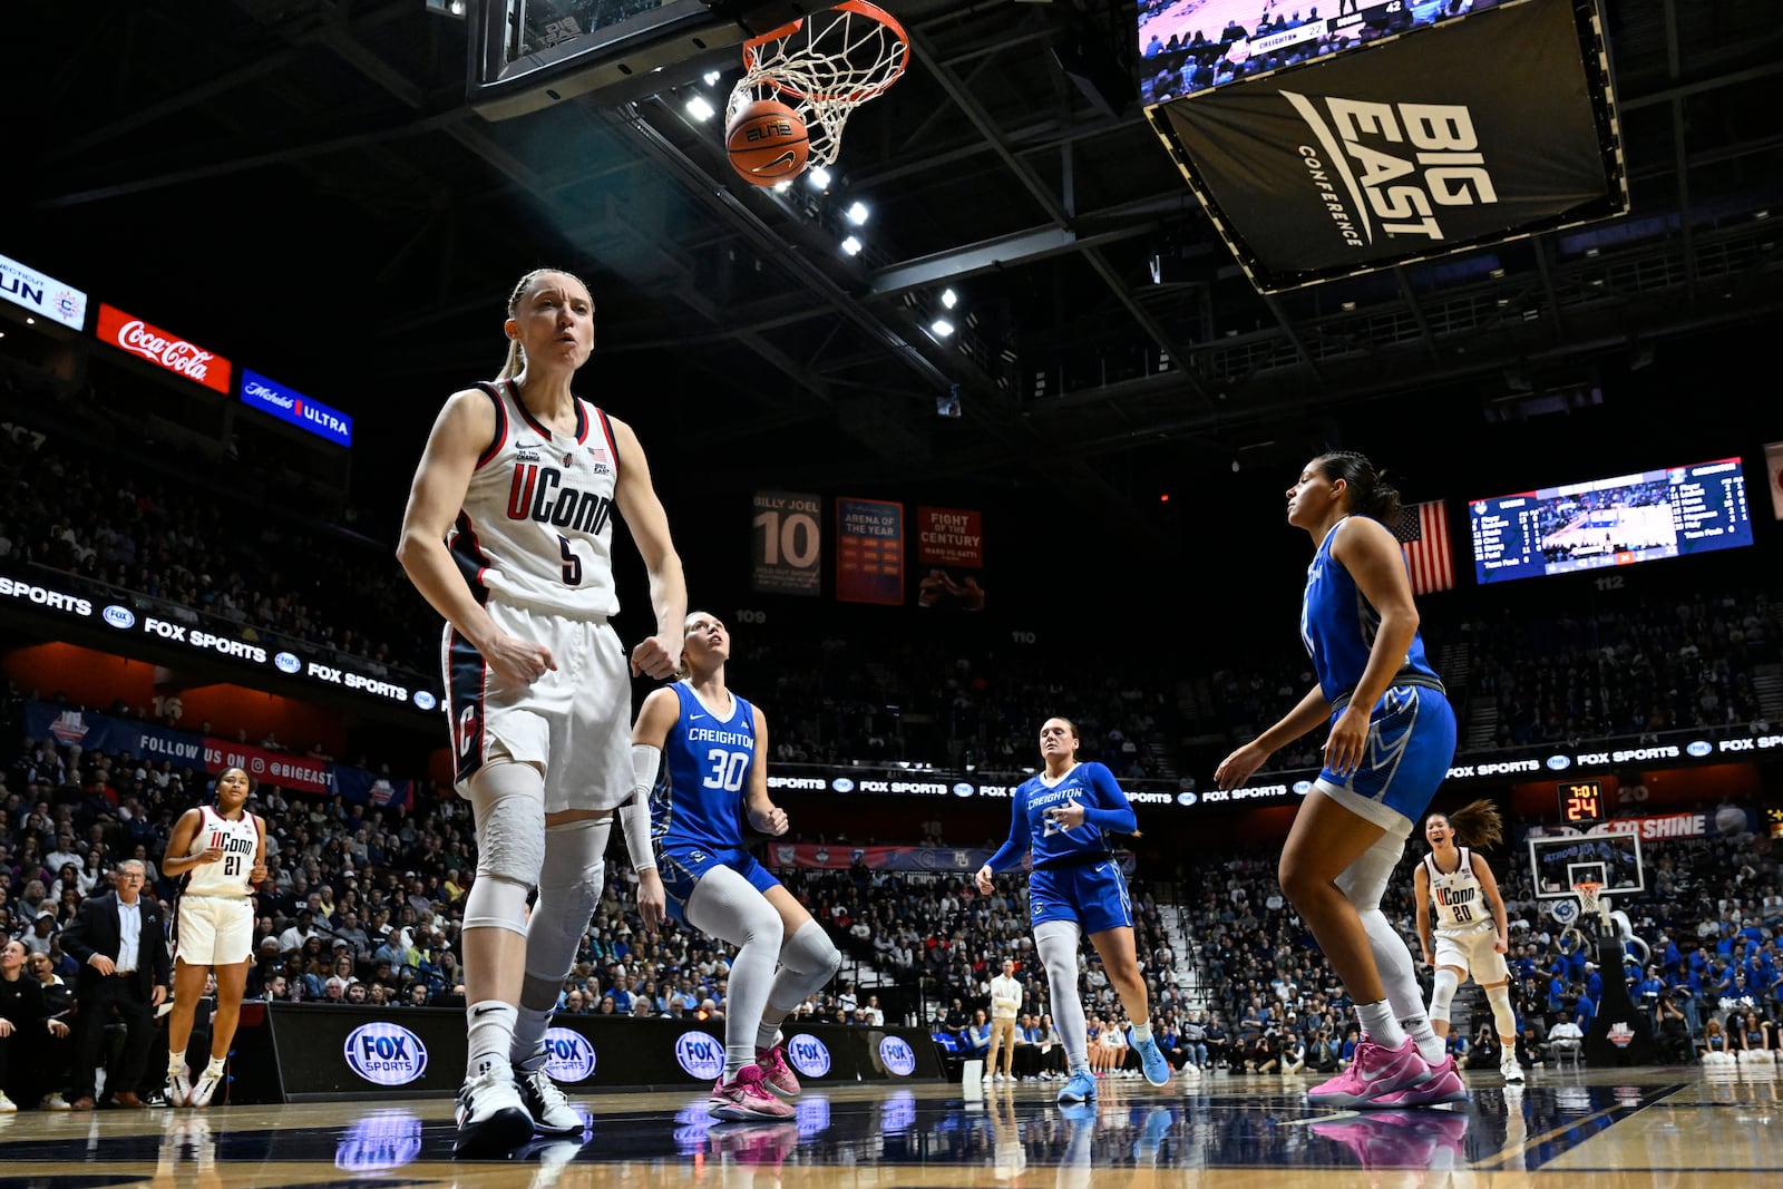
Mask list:
[[[1738,458],[1467,504],[1480,585],[1753,544]]]

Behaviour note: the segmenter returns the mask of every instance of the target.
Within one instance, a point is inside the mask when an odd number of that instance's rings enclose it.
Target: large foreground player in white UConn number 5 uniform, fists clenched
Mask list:
[[[544,1034],[601,898],[615,809],[654,929],[663,890],[649,806],[633,799],[631,677],[681,658],[686,583],[637,433],[571,390],[594,349],[594,299],[560,269],[508,298],[508,362],[455,392],[415,471],[398,558],[446,619],[455,781],[476,815],[464,907],[469,1059],[460,1157],[505,1157],[583,1118],[546,1073]],[[656,633],[629,658],[613,515],[649,570]],[[449,538],[449,540],[448,540]],[[538,898],[528,911],[533,891]]]

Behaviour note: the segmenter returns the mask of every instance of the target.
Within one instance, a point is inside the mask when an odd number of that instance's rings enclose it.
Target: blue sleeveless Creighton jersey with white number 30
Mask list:
[[[681,717],[663,740],[663,768],[651,791],[651,838],[656,847],[740,850],[744,793],[756,765],[756,709],[736,693],[719,713],[686,681],[670,690]]]

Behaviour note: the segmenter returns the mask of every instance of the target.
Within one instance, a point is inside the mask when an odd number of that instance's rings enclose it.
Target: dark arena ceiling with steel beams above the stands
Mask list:
[[[424,0],[7,5],[36,52],[9,62],[0,250],[408,426],[405,476],[440,396],[496,367],[508,285],[565,262],[601,305],[601,399],[711,442],[706,490],[1043,476],[1109,506],[1344,405],[1441,389],[1476,422],[1783,312],[1769,0],[1606,0],[1633,210],[1601,239],[1268,298],[1125,93],[1130,4],[888,7],[911,68],[820,198],[738,182],[686,87],[489,119],[467,23]]]

